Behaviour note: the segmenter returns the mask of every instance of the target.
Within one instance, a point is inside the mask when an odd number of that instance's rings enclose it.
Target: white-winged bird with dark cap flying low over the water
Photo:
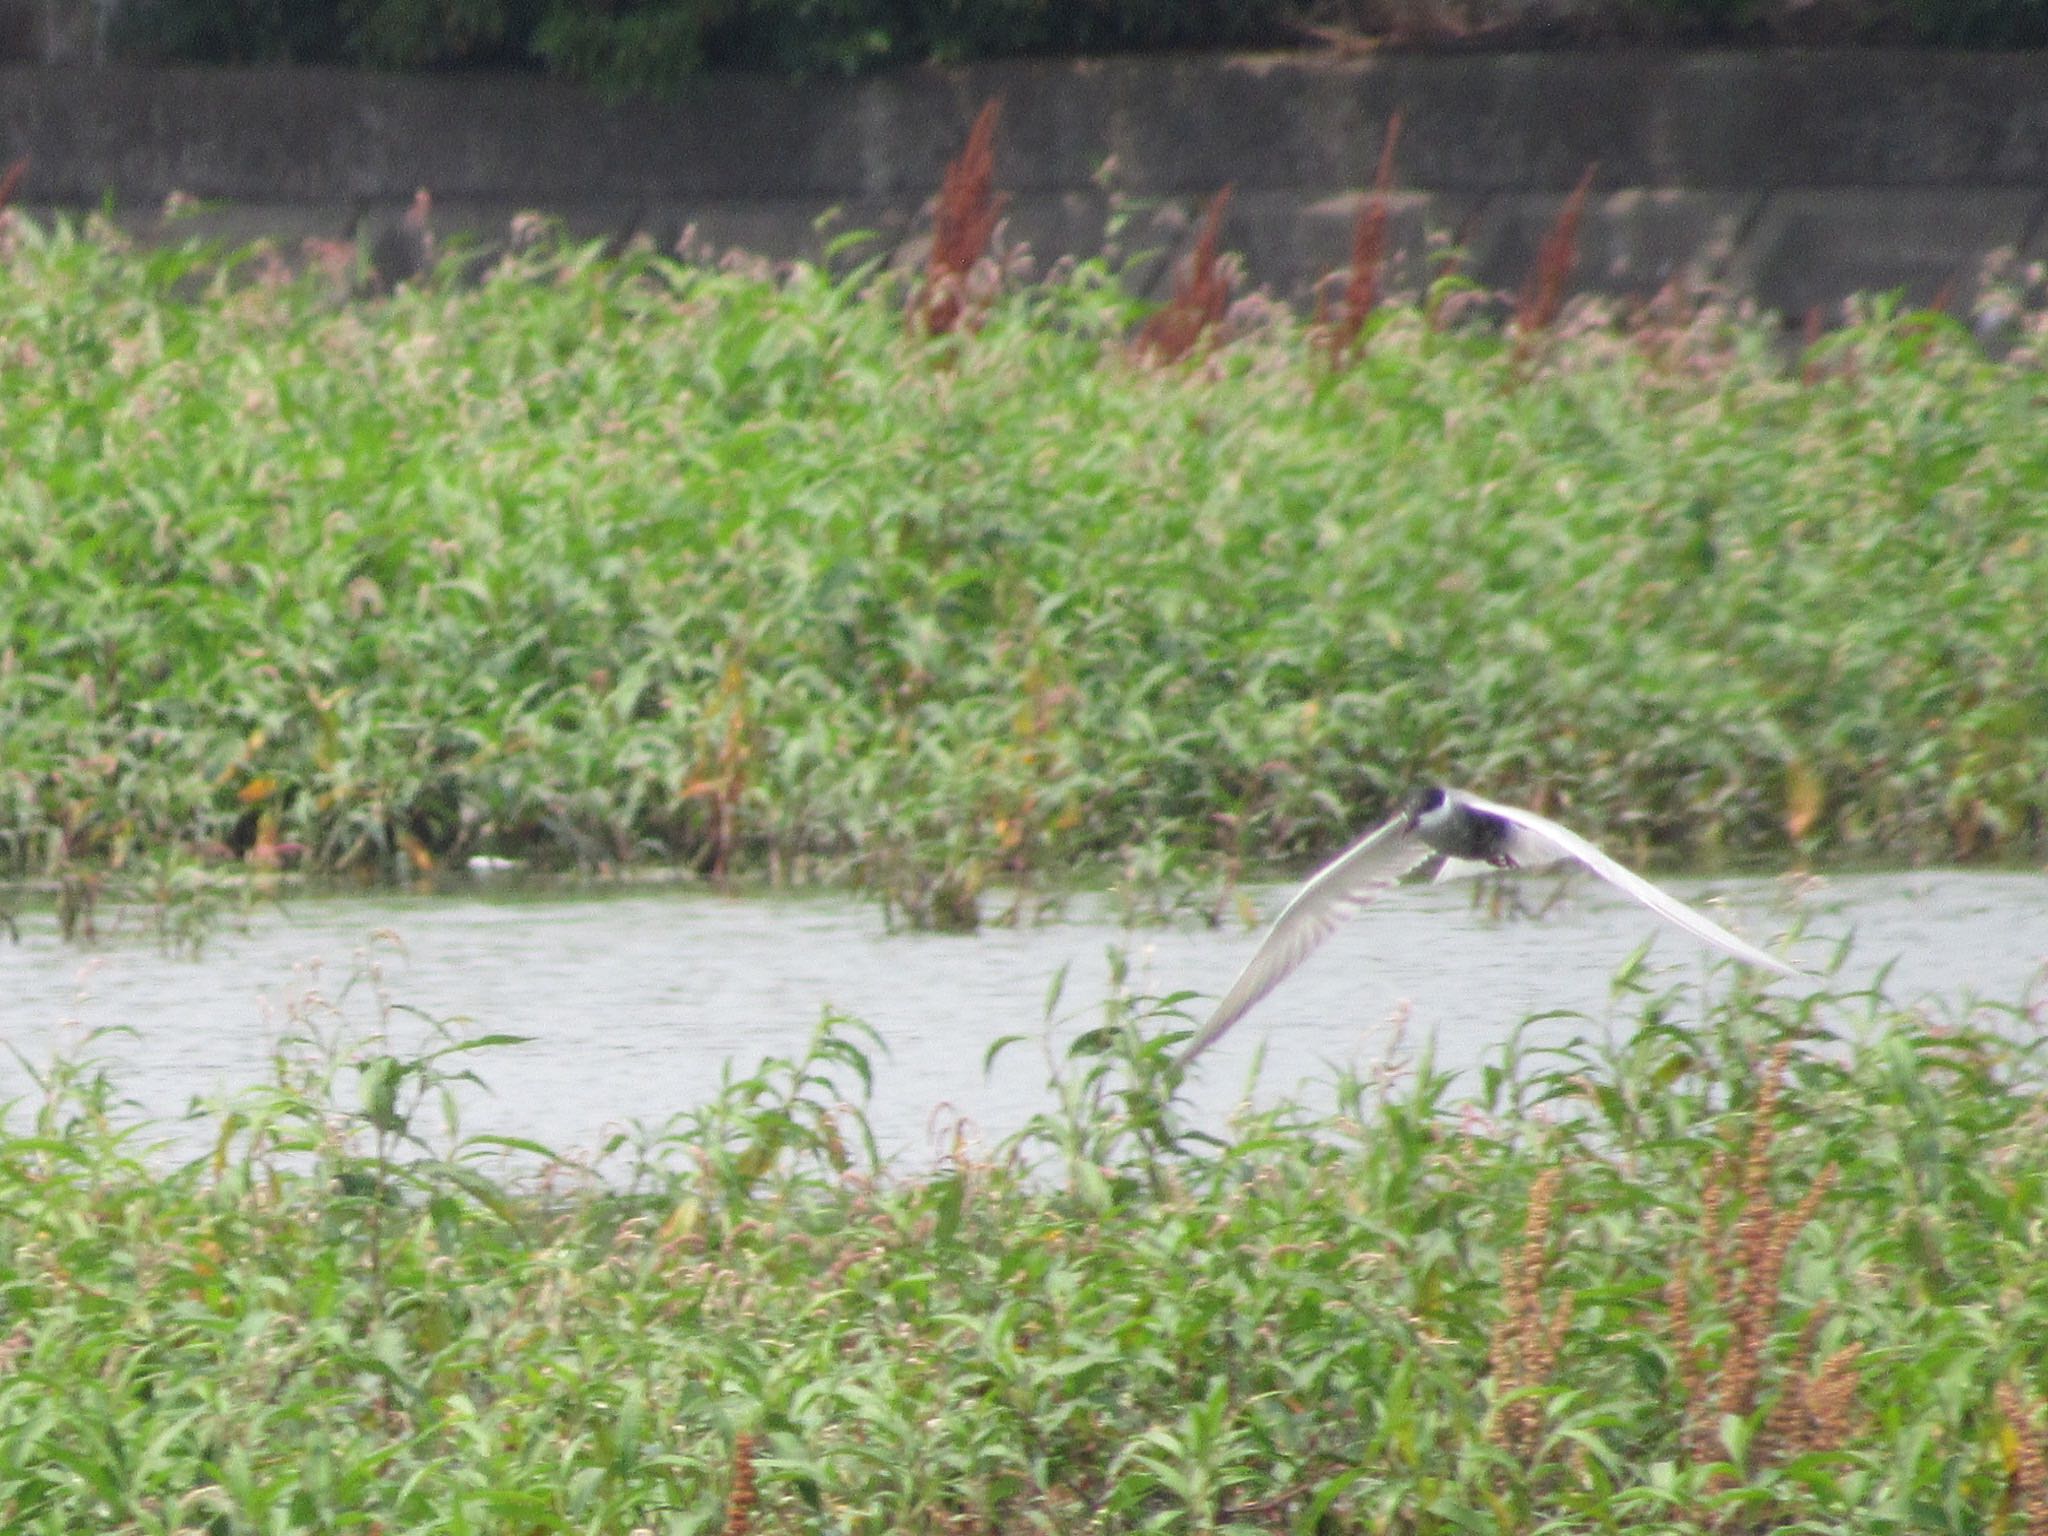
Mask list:
[[[1278,987],[1309,952],[1329,938],[1346,918],[1370,907],[1403,874],[1430,860],[1442,860],[1438,879],[1481,868],[1540,868],[1575,858],[1593,874],[1634,897],[1673,928],[1733,954],[1743,965],[1796,977],[1806,975],[1747,944],[1706,913],[1645,881],[1608,858],[1571,827],[1546,815],[1495,805],[1462,788],[1427,788],[1409,809],[1397,811],[1319,868],[1294,899],[1280,909],[1257,952],[1223,993],[1217,1012],[1180,1053],[1186,1067],[1241,1020],[1251,1006]]]

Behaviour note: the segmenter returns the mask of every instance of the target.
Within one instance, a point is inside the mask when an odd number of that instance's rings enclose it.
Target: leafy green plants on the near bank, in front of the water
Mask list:
[[[0,1120],[0,1524],[2048,1530],[2038,1008],[1640,1006],[1223,1139],[1112,1020],[932,1169],[864,1155],[852,1024],[604,1178],[465,1141],[432,1034],[287,1051],[172,1167],[57,1067]]]

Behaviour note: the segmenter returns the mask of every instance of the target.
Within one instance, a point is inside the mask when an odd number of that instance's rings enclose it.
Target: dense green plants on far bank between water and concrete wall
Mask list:
[[[971,918],[1432,776],[1636,852],[2048,836],[2032,330],[1391,307],[1337,371],[1282,313],[1141,367],[1087,266],[940,340],[807,268],[258,266],[0,260],[0,864],[80,899],[303,846]]]

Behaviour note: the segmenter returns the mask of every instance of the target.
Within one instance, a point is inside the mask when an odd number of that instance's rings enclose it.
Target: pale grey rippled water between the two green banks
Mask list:
[[[1769,940],[1792,920],[1792,954],[1823,967],[1853,934],[1835,991],[1868,985],[1892,963],[1888,993],[1956,1008],[2017,1001],[2048,967],[2044,874],[1855,874],[1792,891],[1776,881],[1671,881],[1714,899],[1745,934]],[[1554,883],[1522,885],[1542,905]],[[1262,915],[1288,887],[1262,889]],[[1317,1102],[1329,1063],[1376,1063],[1397,1014],[1409,1047],[1434,1036],[1438,1061],[1468,1067],[1530,1014],[1577,1010],[1532,1038],[1606,1026],[1610,979],[1659,932],[1651,961],[1673,979],[1704,975],[1702,954],[1593,881],[1571,883],[1542,918],[1491,918],[1470,887],[1391,895],[1337,932],[1309,965],[1237,1026],[1200,1067],[1190,1098],[1223,1116],[1266,1047],[1255,1098]],[[459,1016],[528,1044],[471,1059],[489,1094],[465,1124],[561,1149],[598,1145],[627,1120],[662,1120],[715,1092],[725,1063],[803,1047],[825,1008],[872,1024],[889,1047],[870,1118],[883,1149],[922,1159],[934,1126],[965,1116],[989,1141],[1044,1108],[1044,999],[1067,985],[1055,1036],[1092,1024],[1108,991],[1106,950],[1130,954],[1139,991],[1219,993],[1257,944],[1255,930],[1124,930],[1085,911],[1067,922],[971,938],[889,934],[872,905],[848,899],[729,899],[639,891],[578,899],[377,897],[293,903],[248,932],[221,932],[199,961],[143,944],[80,950],[25,922],[0,946],[0,1042],[31,1063],[94,1028],[129,1028],[100,1049],[143,1110],[176,1116],[193,1096],[262,1081],[289,1020],[336,1004],[356,1028],[375,995],[430,1016]],[[367,967],[375,971],[375,985]],[[1726,973],[1720,973],[1722,977]],[[1726,985],[1724,979],[1716,985]],[[1794,985],[1794,983],[1778,983]],[[1200,1004],[1190,1004],[1198,1010]],[[1620,1016],[1628,1016],[1626,1010]],[[410,1016],[397,1026],[416,1030]],[[993,1075],[989,1044],[1028,1034]],[[27,1092],[0,1057],[0,1100]]]

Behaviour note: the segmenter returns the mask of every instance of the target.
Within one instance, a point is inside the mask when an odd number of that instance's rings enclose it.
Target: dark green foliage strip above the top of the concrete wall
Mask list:
[[[121,0],[131,57],[547,68],[610,90],[700,70],[856,72],[1032,53],[1567,43],[2034,47],[2048,0]]]

